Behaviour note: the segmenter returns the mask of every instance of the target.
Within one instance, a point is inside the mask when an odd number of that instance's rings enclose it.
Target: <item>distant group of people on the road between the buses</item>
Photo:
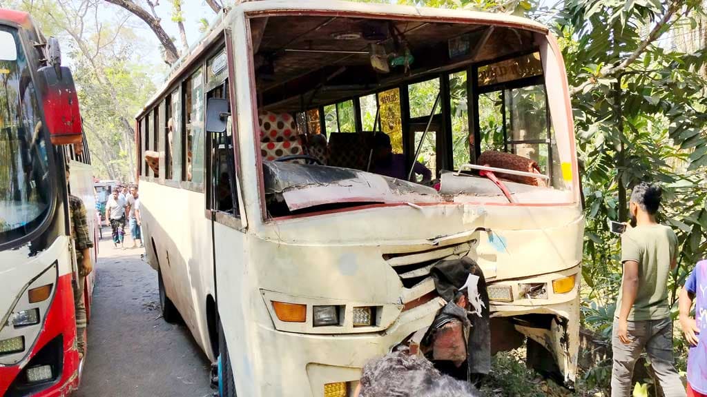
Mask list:
[[[140,195],[136,185],[116,186],[105,203],[105,220],[112,230],[113,245],[125,249],[125,225],[129,226],[132,248],[143,247]]]

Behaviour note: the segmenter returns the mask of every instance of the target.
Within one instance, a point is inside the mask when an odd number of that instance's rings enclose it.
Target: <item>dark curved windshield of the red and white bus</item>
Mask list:
[[[0,25],[0,244],[38,227],[51,203],[47,143],[17,30]]]

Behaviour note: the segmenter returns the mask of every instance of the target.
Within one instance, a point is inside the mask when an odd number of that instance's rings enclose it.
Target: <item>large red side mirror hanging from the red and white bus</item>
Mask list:
[[[49,136],[54,145],[81,143],[81,112],[71,70],[64,66],[44,66],[39,71],[44,84],[42,108]]]

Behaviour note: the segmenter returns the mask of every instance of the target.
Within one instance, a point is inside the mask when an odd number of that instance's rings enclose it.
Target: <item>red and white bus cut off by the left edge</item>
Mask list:
[[[66,162],[76,164],[72,194],[93,198],[59,43],[28,13],[0,9],[0,396],[66,396],[78,387]],[[95,227],[95,207],[86,208]]]

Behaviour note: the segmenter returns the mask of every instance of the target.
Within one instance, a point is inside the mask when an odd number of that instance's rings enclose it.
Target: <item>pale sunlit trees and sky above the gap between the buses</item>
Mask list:
[[[76,81],[86,140],[95,176],[134,179],[134,114],[155,90],[153,65],[124,20],[101,18],[87,0],[16,0],[10,6],[32,13],[45,35],[59,37],[64,63]]]

